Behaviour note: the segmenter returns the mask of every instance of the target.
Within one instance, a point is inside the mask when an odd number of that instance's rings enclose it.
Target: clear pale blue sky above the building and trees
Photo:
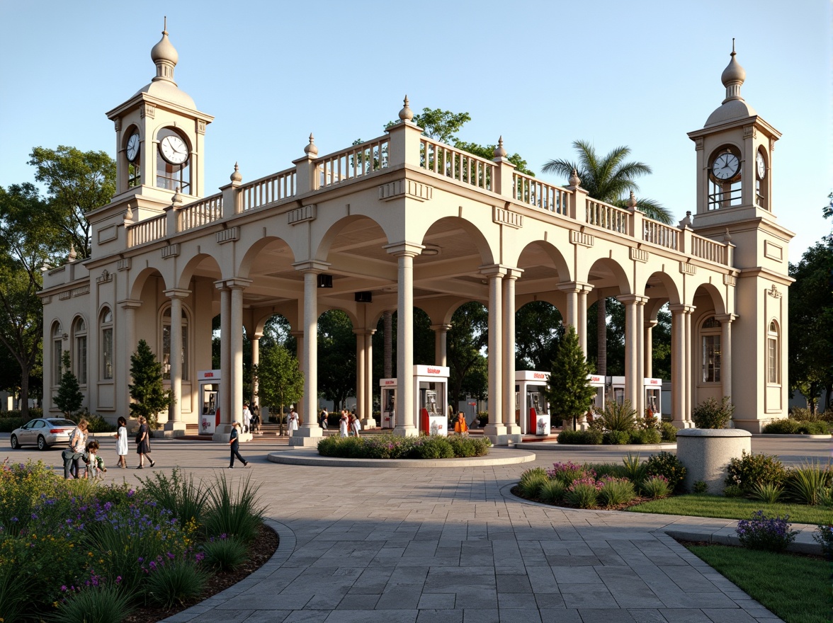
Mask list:
[[[653,167],[644,197],[695,209],[686,132],[724,97],[736,37],[742,95],[783,133],[773,206],[793,262],[831,231],[831,2],[12,2],[0,0],[0,185],[33,180],[34,146],[115,155],[104,112],[150,82],[167,15],[176,79],[216,117],[207,193],[382,134],[407,93],[416,111],[471,113],[460,137],[503,135],[540,172],[576,138],[627,145]],[[551,179],[565,183],[564,180]]]

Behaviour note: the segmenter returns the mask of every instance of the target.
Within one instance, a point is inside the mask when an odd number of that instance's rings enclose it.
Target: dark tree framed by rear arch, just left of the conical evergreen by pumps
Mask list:
[[[516,370],[549,370],[561,339],[561,311],[546,301],[515,312]]]

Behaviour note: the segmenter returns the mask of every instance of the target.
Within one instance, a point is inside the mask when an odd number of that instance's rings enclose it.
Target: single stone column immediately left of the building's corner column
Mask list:
[[[329,266],[324,262],[293,264],[304,276],[303,353],[304,397],[299,405],[302,425],[289,438],[290,446],[316,446],[322,436],[316,411],[318,406],[318,275]]]

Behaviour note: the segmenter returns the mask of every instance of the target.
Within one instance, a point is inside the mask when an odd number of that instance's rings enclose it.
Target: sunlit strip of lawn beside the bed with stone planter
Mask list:
[[[768,517],[789,515],[791,523],[816,525],[827,523],[831,518],[831,509],[824,506],[765,504],[744,497],[706,496],[696,493],[651,500],[636,506],[630,506],[626,510],[636,513],[723,517],[726,519],[749,519],[753,512],[764,511]]]

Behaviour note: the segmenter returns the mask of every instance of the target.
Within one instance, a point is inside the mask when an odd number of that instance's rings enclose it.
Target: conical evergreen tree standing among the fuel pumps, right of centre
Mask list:
[[[587,384],[587,375],[591,372],[592,366],[581,351],[576,327],[567,326],[552,361],[546,392],[554,419],[572,421],[576,428],[576,420],[590,408],[596,397],[596,388]]]

